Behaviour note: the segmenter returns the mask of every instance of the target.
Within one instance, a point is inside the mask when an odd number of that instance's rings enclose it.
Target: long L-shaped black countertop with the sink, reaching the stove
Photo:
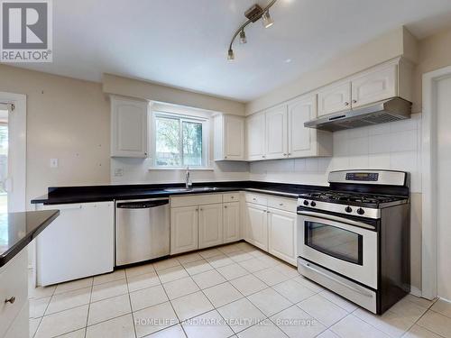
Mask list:
[[[286,183],[230,181],[204,182],[193,184],[190,191],[165,191],[167,188],[184,187],[182,184],[153,184],[153,185],[110,185],[83,187],[49,187],[48,194],[32,199],[32,204],[58,205],[69,203],[86,203],[113,201],[119,199],[141,199],[176,195],[208,194],[231,191],[253,191],[275,196],[298,198],[312,190],[325,190],[323,186],[295,185]],[[196,189],[198,187],[215,187],[211,190]]]

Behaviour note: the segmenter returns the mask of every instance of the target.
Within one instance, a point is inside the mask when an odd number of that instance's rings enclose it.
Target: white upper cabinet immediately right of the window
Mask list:
[[[245,160],[244,117],[221,114],[214,123],[215,160]]]

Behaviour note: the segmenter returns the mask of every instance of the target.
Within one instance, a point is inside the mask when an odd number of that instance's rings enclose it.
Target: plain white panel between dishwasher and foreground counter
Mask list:
[[[36,238],[37,285],[47,286],[113,271],[113,202],[36,206],[60,216]]]

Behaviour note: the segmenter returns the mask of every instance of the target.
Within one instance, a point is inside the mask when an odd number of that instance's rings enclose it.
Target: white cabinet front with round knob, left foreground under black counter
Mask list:
[[[10,260],[0,273],[0,337],[14,322],[28,298],[27,251]],[[15,297],[13,304],[5,299]]]

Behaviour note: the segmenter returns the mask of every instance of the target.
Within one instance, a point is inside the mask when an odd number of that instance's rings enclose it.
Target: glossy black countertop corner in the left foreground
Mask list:
[[[59,210],[0,214],[0,268],[60,215]]]

